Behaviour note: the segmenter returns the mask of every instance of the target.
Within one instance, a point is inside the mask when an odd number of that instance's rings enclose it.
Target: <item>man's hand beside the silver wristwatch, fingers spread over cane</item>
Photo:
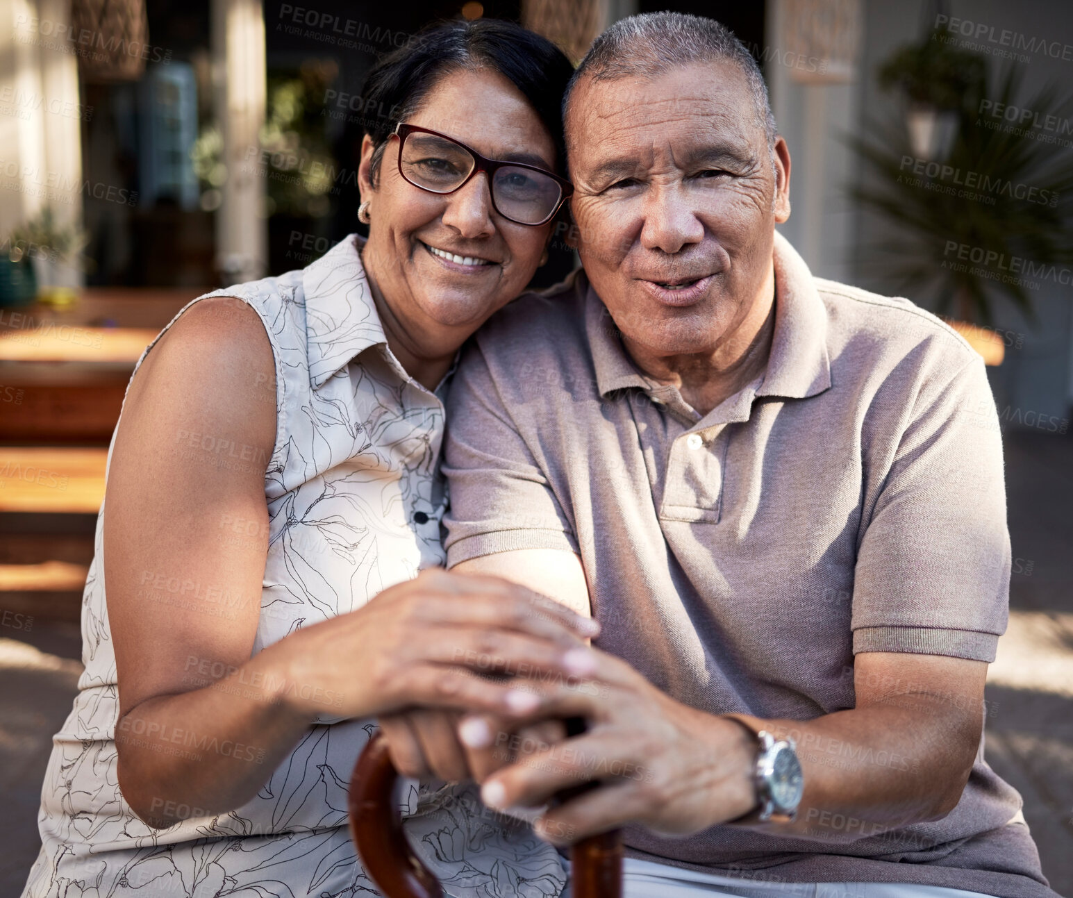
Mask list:
[[[593,649],[592,680],[550,706],[589,722],[582,736],[548,744],[491,776],[481,792],[493,808],[534,807],[567,789],[601,785],[549,810],[536,823],[548,841],[575,841],[624,823],[688,835],[734,820],[755,804],[755,741],[739,724],[674,701],[624,661]],[[542,712],[549,709],[544,705]],[[500,753],[519,745],[488,722],[462,721],[464,739]],[[560,834],[570,834],[563,839]]]

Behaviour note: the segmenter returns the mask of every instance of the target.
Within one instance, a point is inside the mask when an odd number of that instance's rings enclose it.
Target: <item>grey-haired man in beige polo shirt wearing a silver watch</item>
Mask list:
[[[584,273],[459,368],[447,551],[591,607],[598,688],[486,804],[599,781],[538,831],[631,824],[633,895],[1054,896],[982,753],[1010,574],[982,360],[775,233],[790,152],[720,25],[613,26],[565,122]]]

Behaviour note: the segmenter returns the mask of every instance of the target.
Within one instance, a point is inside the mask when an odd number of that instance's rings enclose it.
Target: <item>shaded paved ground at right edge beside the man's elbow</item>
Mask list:
[[[1025,798],[1052,886],[1073,896],[1073,439],[1008,436],[1005,453],[1020,573],[988,671],[986,757]]]

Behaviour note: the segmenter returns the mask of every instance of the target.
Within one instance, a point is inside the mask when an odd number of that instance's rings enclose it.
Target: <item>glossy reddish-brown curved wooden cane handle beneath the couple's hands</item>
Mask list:
[[[350,835],[362,866],[387,898],[443,898],[431,871],[414,854],[393,806],[398,774],[387,754],[387,740],[369,739],[350,781]],[[571,850],[574,898],[621,898],[620,829],[582,839]]]

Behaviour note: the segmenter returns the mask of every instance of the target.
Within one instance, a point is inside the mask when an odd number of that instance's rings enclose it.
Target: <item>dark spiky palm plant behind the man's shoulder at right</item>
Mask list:
[[[909,55],[901,50],[893,59],[898,58]],[[1031,292],[1039,284],[1019,275],[1026,268],[1073,262],[1068,226],[1073,162],[1035,139],[1039,135],[1030,129],[981,117],[988,73],[983,58],[976,63],[962,62],[958,69],[964,88],[945,152],[938,158],[918,152],[910,129],[900,122],[871,122],[865,129],[869,138],[851,143],[873,177],[851,192],[896,225],[896,236],[870,248],[866,264],[899,280],[907,292],[934,296],[936,311],[950,316],[985,359],[997,364],[1002,340],[980,327],[993,323],[995,300],[1012,301],[1031,320]],[[892,74],[895,67],[888,63],[881,71],[884,84],[901,84]],[[976,72],[972,78],[964,75],[971,71]],[[996,88],[988,108],[1016,103],[1069,116],[1073,105],[1054,87],[1019,101],[1020,77],[1014,69]]]

